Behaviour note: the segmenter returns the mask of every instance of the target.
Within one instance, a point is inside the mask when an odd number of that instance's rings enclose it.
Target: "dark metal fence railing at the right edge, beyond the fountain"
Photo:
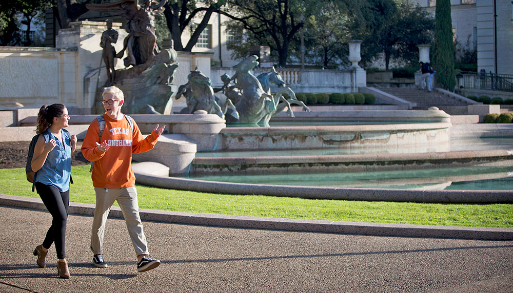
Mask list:
[[[513,92],[513,75],[462,71],[456,75],[456,86],[460,89],[482,89]]]

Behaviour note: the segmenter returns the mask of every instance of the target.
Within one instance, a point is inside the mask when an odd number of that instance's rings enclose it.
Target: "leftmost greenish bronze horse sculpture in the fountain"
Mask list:
[[[239,113],[230,99],[226,99],[223,107],[219,105],[221,100],[214,96],[210,78],[198,71],[198,68],[191,71],[187,78],[189,81],[180,86],[175,97],[179,99],[183,95],[186,99],[187,108],[184,108],[180,114],[193,114],[198,110],[205,110],[207,113],[217,114],[223,119],[225,119],[225,114],[235,120],[239,119]]]

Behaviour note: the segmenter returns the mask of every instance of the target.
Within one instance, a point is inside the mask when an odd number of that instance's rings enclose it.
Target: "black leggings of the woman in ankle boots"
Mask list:
[[[53,218],[52,225],[43,241],[43,247],[48,249],[55,242],[57,258],[64,259],[66,258],[64,242],[66,240],[66,220],[68,219],[69,210],[69,190],[60,192],[55,186],[41,182],[36,182],[35,188]]]

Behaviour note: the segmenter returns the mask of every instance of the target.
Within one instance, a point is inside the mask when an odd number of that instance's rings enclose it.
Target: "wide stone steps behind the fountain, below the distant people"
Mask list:
[[[446,109],[451,109],[450,112],[459,112],[457,111],[459,107],[466,107],[468,105],[466,101],[437,92],[436,89],[432,92],[428,92],[427,90],[421,91],[416,88],[379,88],[379,90],[403,100],[416,103],[417,106],[413,108],[415,110],[427,110],[429,107],[434,106],[444,111]]]

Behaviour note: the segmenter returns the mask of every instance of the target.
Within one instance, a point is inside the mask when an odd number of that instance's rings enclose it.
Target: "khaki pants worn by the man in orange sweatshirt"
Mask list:
[[[91,233],[91,251],[93,254],[103,254],[105,223],[112,204],[114,201],[117,201],[125,217],[128,234],[132,240],[136,255],[148,255],[148,245],[146,244],[146,237],[143,232],[143,223],[141,222],[141,217],[139,217],[139,204],[137,204],[137,191],[135,187],[121,189],[94,187],[94,191],[96,193],[96,207]]]

